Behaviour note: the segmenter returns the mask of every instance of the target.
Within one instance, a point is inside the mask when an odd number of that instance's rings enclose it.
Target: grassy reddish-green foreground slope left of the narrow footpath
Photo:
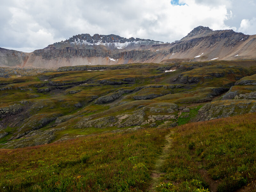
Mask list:
[[[1,150],[1,191],[145,191],[167,130]]]

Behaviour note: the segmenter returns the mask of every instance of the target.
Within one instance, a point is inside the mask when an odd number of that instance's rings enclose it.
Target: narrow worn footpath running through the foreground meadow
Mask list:
[[[163,172],[161,172],[161,166],[164,164],[164,160],[166,159],[166,157],[169,154],[170,148],[172,146],[172,134],[174,132],[170,131],[167,135],[165,135],[164,139],[166,140],[165,144],[164,144],[164,148],[163,148],[163,152],[162,155],[159,156],[159,158],[156,160],[156,165],[155,165],[155,169],[152,170],[152,174],[151,174],[151,178],[152,178],[152,183],[150,188],[148,189],[149,192],[154,192],[156,191],[156,186],[159,183],[159,178],[161,175],[164,175]]]

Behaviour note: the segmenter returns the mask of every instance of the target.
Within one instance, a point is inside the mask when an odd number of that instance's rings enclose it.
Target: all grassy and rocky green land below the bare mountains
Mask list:
[[[255,64],[0,77],[0,192],[255,192]]]

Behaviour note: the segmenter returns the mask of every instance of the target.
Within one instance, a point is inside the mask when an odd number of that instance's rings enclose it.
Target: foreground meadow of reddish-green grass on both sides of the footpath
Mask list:
[[[0,151],[1,191],[255,191],[256,114]],[[172,138],[151,186],[152,170]]]

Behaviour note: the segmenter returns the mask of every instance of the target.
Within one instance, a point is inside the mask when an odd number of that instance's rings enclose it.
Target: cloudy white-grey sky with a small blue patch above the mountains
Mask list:
[[[82,33],[173,42],[197,26],[256,34],[256,0],[1,0],[0,47],[23,52]]]

